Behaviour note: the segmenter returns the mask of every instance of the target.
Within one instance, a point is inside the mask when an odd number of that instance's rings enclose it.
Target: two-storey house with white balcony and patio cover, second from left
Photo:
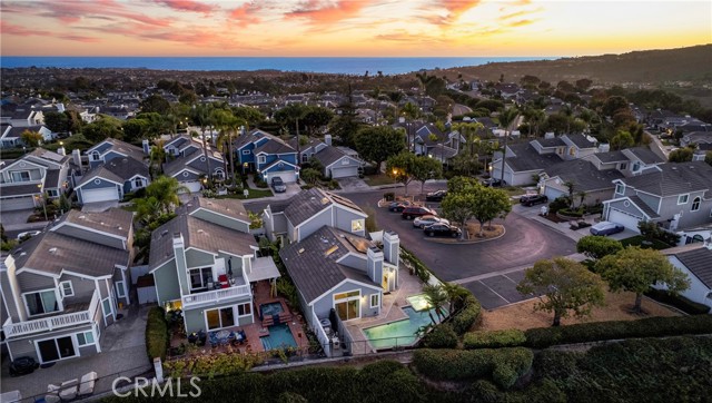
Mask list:
[[[195,197],[151,235],[149,271],[159,305],[182,309],[186,332],[255,322],[251,284],[274,281],[271,257],[257,257],[239,200]]]

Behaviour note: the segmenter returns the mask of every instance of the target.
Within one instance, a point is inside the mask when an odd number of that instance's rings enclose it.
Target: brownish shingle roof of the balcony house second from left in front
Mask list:
[[[255,237],[247,233],[222,227],[187,215],[186,208],[179,208],[179,215],[161,225],[151,234],[151,250],[148,258],[151,269],[174,258],[172,234],[182,235],[185,248],[195,247],[201,250],[227,252],[245,256],[257,247]]]

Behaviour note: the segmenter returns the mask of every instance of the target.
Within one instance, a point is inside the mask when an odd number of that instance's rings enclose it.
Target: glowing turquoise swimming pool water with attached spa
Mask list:
[[[409,346],[416,342],[416,332],[422,326],[433,323],[428,309],[416,311],[411,306],[403,307],[403,312],[408,315],[407,320],[390,322],[385,325],[364,328],[366,338],[376,348],[389,348],[393,346]],[[435,321],[439,321],[435,309],[429,309]]]

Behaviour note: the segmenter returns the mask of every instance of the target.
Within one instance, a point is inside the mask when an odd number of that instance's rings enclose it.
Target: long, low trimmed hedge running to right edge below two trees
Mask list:
[[[537,327],[525,331],[524,335],[526,336],[525,345],[534,348],[545,348],[557,344],[708,333],[712,333],[712,315],[649,317],[637,321],[611,321]]]

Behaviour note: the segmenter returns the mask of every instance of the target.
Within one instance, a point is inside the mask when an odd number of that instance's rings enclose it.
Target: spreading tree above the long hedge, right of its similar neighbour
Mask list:
[[[629,246],[615,255],[603,257],[596,263],[595,269],[609,283],[611,291],[635,293],[635,312],[641,312],[643,293],[654,283],[664,284],[673,294],[690,286],[688,276],[675,268],[660,250],[637,246]]]

